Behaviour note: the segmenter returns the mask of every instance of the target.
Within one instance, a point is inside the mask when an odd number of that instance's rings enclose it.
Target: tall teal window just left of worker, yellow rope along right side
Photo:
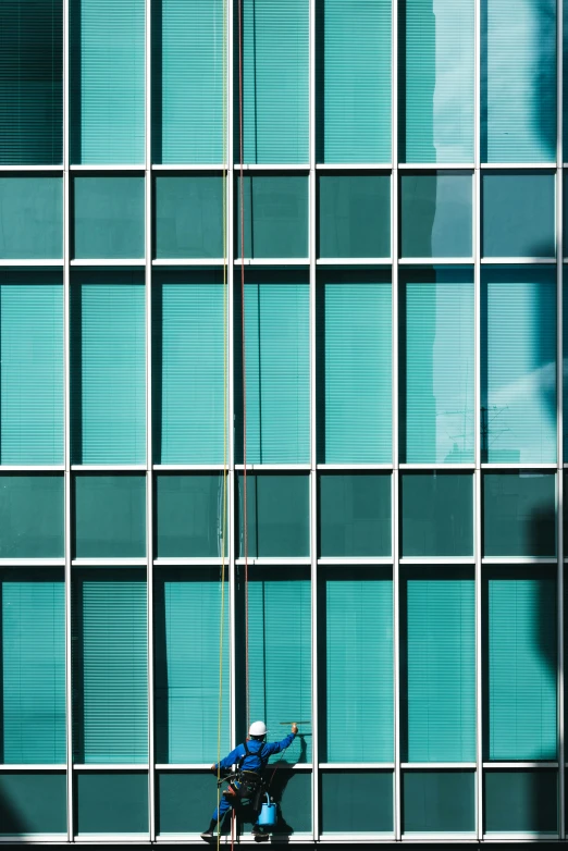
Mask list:
[[[225,570],[225,579],[229,570]],[[229,587],[219,568],[160,569],[155,583],[156,761],[212,763],[229,753]],[[222,609],[223,606],[223,609]],[[220,618],[224,612],[223,643]],[[222,664],[220,704],[219,665]],[[221,712],[221,741],[218,743]],[[202,829],[202,828],[200,828]]]

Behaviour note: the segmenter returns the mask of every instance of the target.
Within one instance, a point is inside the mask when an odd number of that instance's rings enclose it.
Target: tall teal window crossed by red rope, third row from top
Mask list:
[[[245,374],[240,289],[235,298],[235,454],[247,464],[310,459],[310,292],[297,270],[245,279]],[[220,417],[221,419],[221,417]]]

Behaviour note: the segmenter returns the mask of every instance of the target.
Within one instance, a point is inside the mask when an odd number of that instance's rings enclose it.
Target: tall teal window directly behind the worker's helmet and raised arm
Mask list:
[[[248,579],[249,716],[263,718],[274,730],[271,738],[279,740],[289,732],[281,720],[311,719],[309,568],[287,567],[282,574],[249,568]],[[271,762],[277,760],[284,769],[311,762],[311,723],[299,729],[291,747]]]

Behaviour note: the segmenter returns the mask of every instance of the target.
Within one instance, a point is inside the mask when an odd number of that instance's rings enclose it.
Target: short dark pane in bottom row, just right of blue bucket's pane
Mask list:
[[[393,832],[393,773],[322,772],[322,834]]]

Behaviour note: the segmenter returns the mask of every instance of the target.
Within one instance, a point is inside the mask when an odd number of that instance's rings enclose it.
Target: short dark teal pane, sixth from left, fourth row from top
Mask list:
[[[402,555],[473,555],[473,477],[407,472],[400,477]]]

